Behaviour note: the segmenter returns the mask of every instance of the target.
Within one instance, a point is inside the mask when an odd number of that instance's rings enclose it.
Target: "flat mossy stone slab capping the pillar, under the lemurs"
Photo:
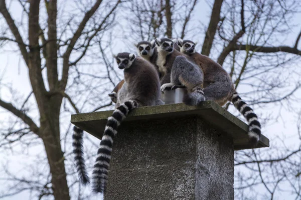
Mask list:
[[[113,110],[72,114],[71,123],[101,139],[107,118],[111,116],[112,113]],[[248,144],[248,124],[211,100],[204,101],[199,106],[176,103],[138,107],[133,109],[124,121],[125,123],[126,121],[147,123],[146,120],[149,119],[170,118],[172,120],[172,118],[192,115],[200,117],[211,124],[213,128],[219,130],[222,134],[224,133],[231,136],[233,138],[235,150],[252,148]],[[124,125],[123,123],[122,125]],[[268,146],[269,139],[264,135],[261,135],[256,148]]]

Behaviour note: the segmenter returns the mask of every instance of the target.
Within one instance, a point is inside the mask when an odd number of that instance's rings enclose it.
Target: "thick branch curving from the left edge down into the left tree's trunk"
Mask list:
[[[31,131],[39,135],[39,127],[27,114],[17,109],[12,103],[5,102],[2,99],[0,99],[0,106],[11,111],[17,117],[22,119],[27,125],[29,125]]]

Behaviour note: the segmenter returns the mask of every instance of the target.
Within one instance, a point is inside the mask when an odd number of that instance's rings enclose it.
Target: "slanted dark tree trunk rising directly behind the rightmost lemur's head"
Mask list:
[[[214,35],[218,22],[220,21],[220,13],[223,0],[215,0],[212,8],[211,18],[208,29],[206,31],[205,39],[203,42],[202,54],[209,55],[212,47]]]

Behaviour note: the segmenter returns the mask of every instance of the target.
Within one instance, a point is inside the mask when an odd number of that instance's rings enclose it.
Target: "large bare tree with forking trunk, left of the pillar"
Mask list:
[[[11,138],[14,135],[22,137],[31,133],[42,140],[50,173],[47,175],[48,182],[44,186],[40,185],[41,190],[45,190],[40,197],[53,195],[55,199],[70,199],[64,164],[66,155],[62,151],[60,132],[63,98],[70,102],[76,112],[79,112],[79,109],[65,92],[69,69],[76,66],[85,57],[88,48],[95,42],[93,39],[96,35],[103,34],[108,27],[113,25],[114,13],[120,2],[121,0],[111,2],[95,0],[93,4],[87,6],[87,2],[83,4],[79,1],[78,3],[82,4],[77,12],[81,11],[81,19],[74,20],[74,18],[79,19],[80,17],[69,16],[66,22],[58,21],[60,6],[58,6],[57,0],[45,0],[44,3],[41,3],[40,0],[20,0],[27,14],[26,18],[28,18],[28,23],[25,23],[26,27],[24,27],[28,33],[21,33],[21,28],[13,19],[6,1],[0,0],[0,12],[9,28],[1,35],[0,40],[14,42],[18,45],[28,67],[33,89],[31,94],[34,96],[39,116],[35,121],[18,104],[0,99],[0,106],[12,112],[24,124],[22,125],[23,129],[9,131],[4,136],[5,138]],[[41,13],[42,11],[46,11],[46,13]],[[44,20],[40,18],[40,14],[47,16],[46,24],[43,24]],[[97,22],[93,17],[97,17]],[[47,73],[43,77],[44,70]],[[11,142],[13,141],[11,140]],[[25,182],[22,179],[19,181]],[[24,187],[23,189],[30,188]],[[14,190],[7,194],[12,193]]]

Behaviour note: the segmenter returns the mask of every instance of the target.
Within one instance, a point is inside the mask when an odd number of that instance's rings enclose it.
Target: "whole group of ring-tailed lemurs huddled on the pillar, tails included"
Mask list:
[[[140,41],[136,56],[122,52],[115,55],[119,69],[124,69],[121,80],[109,94],[116,103],[108,118],[97,151],[92,172],[92,190],[104,192],[108,180],[113,139],[117,128],[127,114],[136,107],[165,104],[160,93],[178,87],[187,89],[183,102],[198,106],[204,100],[219,105],[231,101],[249,124],[249,140],[256,145],[261,134],[260,123],[252,108],[237,94],[232,79],[223,67],[195,50],[191,40],[156,38]],[[82,144],[83,130],[74,127],[73,146],[75,162],[82,183],[89,183]]]

